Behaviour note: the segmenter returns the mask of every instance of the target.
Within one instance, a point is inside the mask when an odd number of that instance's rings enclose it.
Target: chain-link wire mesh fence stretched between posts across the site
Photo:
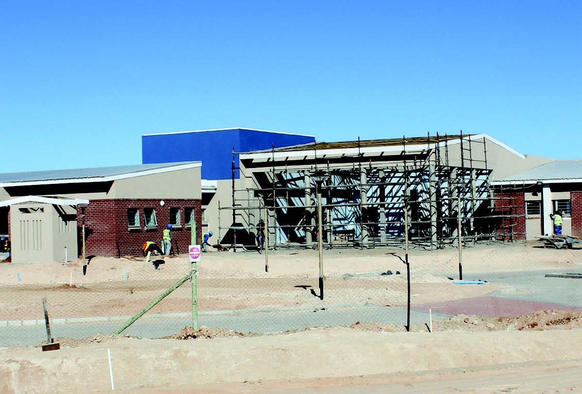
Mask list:
[[[42,298],[54,338],[109,335],[180,278],[190,274],[185,256],[113,259],[82,263],[0,264],[0,346],[33,346],[47,340]],[[410,320],[428,331],[451,316],[520,316],[538,310],[582,310],[582,281],[546,277],[580,273],[582,250],[535,243],[475,245],[459,251],[413,249]],[[404,330],[407,281],[402,249],[324,251],[324,297],[318,286],[317,250],[205,253],[198,263],[200,325],[239,332],[283,332],[310,327],[373,324]],[[161,338],[192,324],[186,280],[122,334]],[[441,323],[439,323],[441,322]],[[445,323],[443,323],[445,322]],[[439,325],[440,324],[440,325]]]

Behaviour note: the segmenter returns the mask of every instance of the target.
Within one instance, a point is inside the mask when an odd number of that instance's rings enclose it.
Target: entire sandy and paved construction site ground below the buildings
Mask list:
[[[156,270],[141,257],[97,256],[87,275],[79,261],[3,263],[0,392],[109,392],[108,348],[116,392],[582,391],[582,281],[544,277],[582,271],[582,250],[535,246],[464,249],[463,279],[482,285],[453,284],[455,249],[411,250],[411,332],[399,249],[325,250],[323,300],[316,250],[269,251],[268,273],[257,252],[207,253],[198,306],[208,327],[184,327],[186,282],[116,336],[189,273],[186,257],[163,257]],[[61,350],[38,347],[42,297]]]

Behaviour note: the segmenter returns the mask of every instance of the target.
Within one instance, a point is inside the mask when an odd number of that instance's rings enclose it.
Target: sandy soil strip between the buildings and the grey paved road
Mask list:
[[[159,257],[156,257],[159,259]],[[465,278],[471,272],[579,268],[582,250],[551,250],[531,245],[494,245],[463,252]],[[164,257],[155,270],[141,258],[94,257],[87,275],[82,264],[0,264],[0,320],[42,318],[42,296],[51,317],[127,316],[187,275],[185,257]],[[413,303],[442,302],[487,294],[504,286],[452,286],[458,255],[454,249],[412,250]],[[318,260],[313,250],[269,252],[269,272],[258,253],[207,253],[198,264],[199,310],[314,305]],[[406,266],[402,250],[326,250],[325,302],[406,305]],[[391,271],[392,275],[381,275]],[[400,272],[400,274],[396,274]],[[72,274],[73,286],[69,286]],[[20,275],[21,281],[17,281]],[[126,280],[125,280],[126,279]],[[150,313],[187,312],[190,289],[184,285]]]

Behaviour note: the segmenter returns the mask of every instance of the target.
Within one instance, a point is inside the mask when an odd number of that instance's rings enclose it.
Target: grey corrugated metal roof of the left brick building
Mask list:
[[[144,171],[171,169],[171,167],[184,164],[196,164],[200,162],[159,163],[159,164],[133,164],[130,166],[95,167],[90,169],[26,171],[23,173],[0,174],[0,183],[10,182],[36,182],[71,180],[83,178],[108,178],[118,175],[141,173]]]

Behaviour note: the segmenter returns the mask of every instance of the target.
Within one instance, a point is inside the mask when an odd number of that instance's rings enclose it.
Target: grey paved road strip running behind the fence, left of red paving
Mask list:
[[[406,325],[406,308],[385,306],[357,307],[314,307],[307,310],[258,311],[244,314],[205,314],[198,319],[200,325],[235,329],[242,332],[280,332],[289,329],[303,329],[324,325],[350,325],[356,321],[378,321]],[[433,318],[441,315],[433,313]],[[428,322],[425,311],[411,311],[411,323]],[[109,334],[115,331],[122,321],[107,323],[61,324],[51,327],[54,338],[85,338],[98,333]],[[144,318],[137,320],[123,334],[159,338],[172,335],[186,325],[191,325],[189,318]],[[44,325],[0,328],[0,346],[30,346],[45,341]]]

